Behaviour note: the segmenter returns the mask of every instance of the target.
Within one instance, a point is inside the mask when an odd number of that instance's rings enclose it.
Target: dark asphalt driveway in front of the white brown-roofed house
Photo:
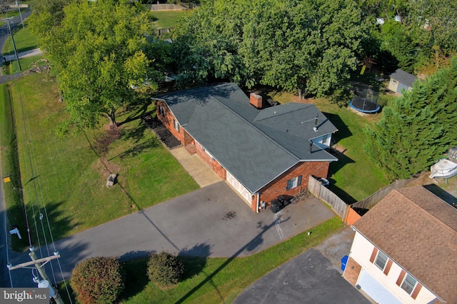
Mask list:
[[[346,227],[331,238],[284,263],[243,291],[234,304],[370,304],[341,275],[353,231]]]

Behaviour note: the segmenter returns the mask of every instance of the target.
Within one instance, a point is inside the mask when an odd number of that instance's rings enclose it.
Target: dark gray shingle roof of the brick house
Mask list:
[[[300,161],[336,161],[310,140],[337,131],[306,103],[259,110],[235,83],[201,86],[159,96],[179,124],[227,171],[256,193]],[[313,131],[318,114],[318,131]]]

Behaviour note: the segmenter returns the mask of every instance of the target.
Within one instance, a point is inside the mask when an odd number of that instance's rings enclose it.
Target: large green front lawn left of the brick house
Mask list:
[[[11,95],[29,217],[32,206],[46,203],[56,239],[198,188],[138,119],[122,126],[123,136],[102,162],[88,142],[101,131],[86,132],[87,138],[59,138],[52,131],[67,118],[54,78],[31,74],[11,85]],[[105,186],[107,168],[119,174],[111,188]]]

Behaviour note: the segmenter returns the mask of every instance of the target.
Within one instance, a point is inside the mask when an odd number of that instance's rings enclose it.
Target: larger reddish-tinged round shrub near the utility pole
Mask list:
[[[113,303],[124,290],[124,275],[116,258],[88,258],[75,266],[70,279],[79,303]]]

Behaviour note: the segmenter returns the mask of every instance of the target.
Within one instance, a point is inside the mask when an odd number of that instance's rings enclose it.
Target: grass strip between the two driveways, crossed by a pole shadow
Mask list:
[[[126,288],[121,303],[232,303],[244,289],[291,258],[343,227],[338,217],[247,258],[179,257],[184,275],[173,288],[161,290],[146,277],[148,258],[124,263]],[[67,285],[69,285],[67,283]],[[61,295],[66,290],[60,285]],[[74,302],[75,303],[75,302]]]

